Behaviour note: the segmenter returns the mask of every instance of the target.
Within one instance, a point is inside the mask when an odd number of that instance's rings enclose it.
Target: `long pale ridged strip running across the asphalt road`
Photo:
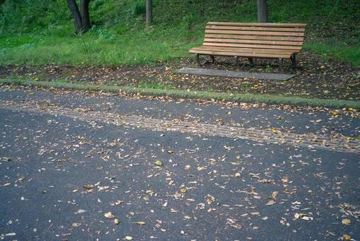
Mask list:
[[[333,150],[336,152],[353,152],[360,155],[360,141],[344,135],[315,135],[313,133],[286,133],[279,129],[242,128],[234,125],[220,125],[184,121],[179,118],[172,120],[153,117],[124,115],[110,112],[88,111],[80,108],[64,108],[40,103],[18,103],[0,101],[0,108],[14,111],[47,113],[54,116],[67,116],[86,122],[99,121],[113,125],[131,126],[152,131],[172,131],[182,134],[220,136],[225,138],[252,140],[255,142],[293,145],[312,149]]]

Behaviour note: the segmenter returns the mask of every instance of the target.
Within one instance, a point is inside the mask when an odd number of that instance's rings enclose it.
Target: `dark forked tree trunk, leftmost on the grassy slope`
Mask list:
[[[89,3],[90,0],[80,0],[80,9],[77,6],[76,0],[67,0],[67,6],[72,13],[74,18],[74,32],[75,33],[84,33],[91,28],[90,16],[89,16]]]

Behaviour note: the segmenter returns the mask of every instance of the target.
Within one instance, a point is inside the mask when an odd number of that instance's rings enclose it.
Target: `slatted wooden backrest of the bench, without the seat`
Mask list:
[[[206,25],[203,45],[300,52],[306,23],[223,23]]]

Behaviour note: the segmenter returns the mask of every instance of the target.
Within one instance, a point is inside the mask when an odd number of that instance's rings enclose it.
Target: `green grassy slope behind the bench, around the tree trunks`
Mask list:
[[[0,12],[0,64],[134,65],[169,60],[189,56],[189,48],[201,44],[206,21],[256,20],[253,0],[154,0],[154,26],[145,29],[145,1],[94,0],[94,29],[74,36],[64,1],[14,1],[7,0]],[[359,1],[268,1],[271,21],[310,23],[305,49],[360,66]]]

